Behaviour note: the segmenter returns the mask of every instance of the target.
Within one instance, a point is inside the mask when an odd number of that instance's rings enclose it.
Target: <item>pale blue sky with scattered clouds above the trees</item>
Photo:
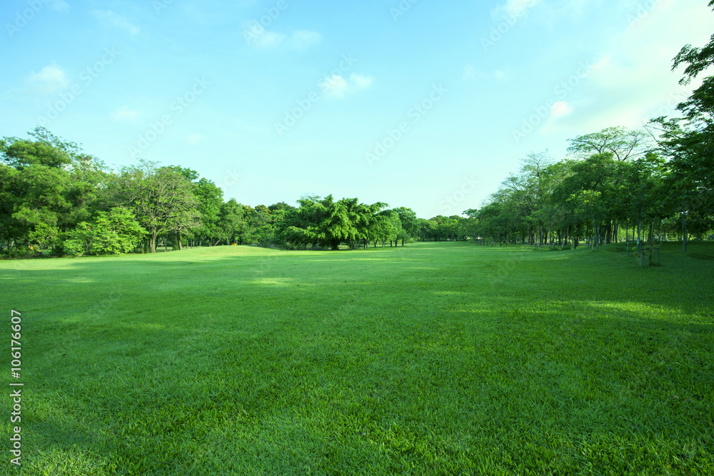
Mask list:
[[[530,153],[675,115],[707,0],[4,0],[0,136],[36,126],[224,199],[480,208]]]

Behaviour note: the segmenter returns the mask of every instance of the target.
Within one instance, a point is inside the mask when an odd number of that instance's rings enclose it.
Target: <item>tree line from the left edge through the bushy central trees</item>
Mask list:
[[[23,257],[156,253],[159,247],[262,245],[338,249],[465,239],[463,217],[308,196],[298,206],[223,201],[213,181],[181,166],[104,163],[45,128],[0,140],[0,253]]]

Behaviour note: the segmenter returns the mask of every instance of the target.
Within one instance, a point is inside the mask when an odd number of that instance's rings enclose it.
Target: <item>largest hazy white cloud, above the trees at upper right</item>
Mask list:
[[[670,69],[682,46],[708,42],[710,9],[697,2],[659,0],[650,9],[630,4],[626,11],[635,20],[603,46],[604,54],[587,79],[568,95],[568,107],[576,105],[568,112],[568,121],[549,117],[543,133],[575,135],[608,126],[639,128],[651,118],[678,115],[677,103],[699,86],[700,81],[680,86],[683,69]],[[565,106],[558,107],[562,109],[551,113],[567,112]]]

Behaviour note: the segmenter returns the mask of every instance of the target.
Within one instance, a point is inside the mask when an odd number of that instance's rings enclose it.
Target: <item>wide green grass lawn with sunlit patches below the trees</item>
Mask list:
[[[711,475],[713,278],[708,243],[0,261],[23,473]]]

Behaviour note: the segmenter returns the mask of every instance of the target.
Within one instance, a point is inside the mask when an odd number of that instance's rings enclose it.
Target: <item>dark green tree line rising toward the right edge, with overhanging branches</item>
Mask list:
[[[714,6],[710,1],[709,6]],[[684,46],[672,69],[687,85],[714,64],[714,36]],[[641,130],[605,128],[570,140],[568,158],[532,153],[481,209],[467,234],[486,243],[593,245],[704,239],[714,229],[714,76],[678,104],[680,116]]]

